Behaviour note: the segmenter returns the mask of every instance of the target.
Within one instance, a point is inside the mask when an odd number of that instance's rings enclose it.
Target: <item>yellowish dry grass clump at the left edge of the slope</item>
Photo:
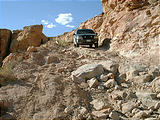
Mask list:
[[[0,68],[0,85],[7,85],[15,81],[16,77],[14,76],[13,70],[10,66]]]

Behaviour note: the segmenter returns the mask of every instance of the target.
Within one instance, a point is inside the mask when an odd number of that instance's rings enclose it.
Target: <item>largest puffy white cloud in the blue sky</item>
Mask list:
[[[71,13],[61,13],[58,15],[58,18],[56,18],[55,21],[61,25],[66,25],[73,21],[73,17]]]

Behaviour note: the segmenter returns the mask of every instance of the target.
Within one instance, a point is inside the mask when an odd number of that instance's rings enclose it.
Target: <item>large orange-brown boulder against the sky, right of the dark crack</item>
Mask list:
[[[24,27],[22,31],[14,31],[10,46],[11,52],[26,51],[29,46],[37,47],[47,41],[42,33],[42,25]]]

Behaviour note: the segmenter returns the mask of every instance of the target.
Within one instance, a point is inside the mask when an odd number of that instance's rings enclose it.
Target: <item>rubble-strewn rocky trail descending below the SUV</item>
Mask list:
[[[2,120],[160,119],[159,69],[105,48],[49,41],[12,67]]]

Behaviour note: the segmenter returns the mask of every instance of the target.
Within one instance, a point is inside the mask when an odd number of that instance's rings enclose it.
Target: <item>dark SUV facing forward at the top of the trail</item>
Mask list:
[[[91,29],[78,29],[73,34],[73,43],[75,47],[79,47],[79,45],[89,45],[90,47],[94,46],[98,47],[98,36]]]

